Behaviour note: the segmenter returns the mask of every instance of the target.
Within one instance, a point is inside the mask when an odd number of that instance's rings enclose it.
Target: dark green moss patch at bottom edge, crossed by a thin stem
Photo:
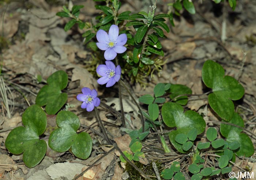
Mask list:
[[[133,162],[135,166],[137,166],[141,171],[143,171],[148,176],[155,176],[155,171],[152,167],[152,162],[148,165],[141,164],[138,161]],[[161,169],[161,164],[156,162],[158,170]],[[125,164],[125,171],[129,174],[128,180],[146,180],[146,178],[142,177],[138,171],[136,171],[135,168],[133,168],[132,165],[130,165],[128,162]],[[151,177],[153,180],[157,180],[155,177]]]

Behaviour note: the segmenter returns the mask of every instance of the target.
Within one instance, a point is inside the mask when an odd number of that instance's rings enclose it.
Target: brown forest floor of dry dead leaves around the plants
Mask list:
[[[168,2],[168,0],[158,0],[156,14],[167,13]],[[99,10],[94,8],[93,0],[74,0],[73,3],[84,5],[79,16],[84,21],[94,20],[99,13]],[[202,66],[206,60],[211,59],[221,64],[225,74],[236,78],[245,88],[244,97],[234,102],[235,110],[244,119],[245,129],[256,134],[256,1],[240,0],[237,3],[235,11],[232,11],[228,3],[223,7],[223,3],[215,5],[211,0],[205,0],[203,4],[195,3],[195,15],[184,10],[180,17],[175,16],[175,27],[168,22],[170,32],[165,33],[166,39],[161,39],[165,52],[163,60],[166,61],[162,71],[148,78],[145,87],[141,87],[140,84],[130,84],[128,78],[124,78],[136,99],[144,94],[153,95],[153,88],[157,83],[182,84],[191,88],[193,94],[204,93]],[[121,120],[117,115],[118,111],[120,112],[118,86],[115,85],[108,90],[97,84],[98,77],[85,68],[90,68],[93,54],[83,44],[83,31],[75,26],[65,32],[64,26],[68,18],[56,16],[62,6],[67,4],[67,0],[22,0],[13,1],[7,7],[4,1],[0,1],[0,58],[3,62],[0,83],[10,90],[7,89],[10,114],[7,113],[3,97],[1,96],[0,99],[0,179],[72,179],[102,154],[109,152],[112,147],[95,133],[95,131],[100,132],[95,123],[95,112],[84,113],[80,107],[81,103],[76,100],[76,95],[81,93],[83,87],[97,89],[102,103],[112,109],[112,113],[109,113],[106,106],[99,107],[101,119],[120,149],[127,150],[131,142],[129,135],[120,130]],[[150,1],[147,0],[124,0],[120,12],[131,11],[132,14],[147,12],[150,5]],[[223,21],[226,22],[225,41],[221,40]],[[87,130],[93,139],[93,151],[87,160],[79,160],[69,152],[50,157],[50,152],[47,152],[47,156],[39,165],[27,168],[23,164],[22,154],[15,156],[8,152],[5,148],[5,139],[12,129],[22,126],[23,112],[27,107],[35,104],[37,93],[45,85],[46,79],[57,70],[67,72],[69,79],[68,86],[64,90],[68,93],[68,102],[63,109],[74,112],[82,125],[92,125],[91,128],[95,130]],[[38,81],[40,76],[41,82]],[[124,76],[128,77],[127,74]],[[132,127],[138,129],[141,127],[138,109],[133,105],[128,93],[122,92],[127,118],[131,120]],[[218,121],[206,104],[207,96],[200,98],[191,96],[185,108],[203,114],[205,120]],[[147,107],[142,107],[147,111]],[[219,125],[211,123],[207,123],[206,126],[219,128]],[[162,165],[162,169],[170,165],[173,160],[183,160],[183,167],[189,163],[189,157],[179,154],[171,145],[167,135],[166,142],[172,153],[154,151],[154,148],[162,147],[157,135],[151,133],[143,145],[148,162],[157,161]],[[256,144],[253,138],[252,142]],[[119,166],[120,161],[116,155],[119,156],[117,152],[110,152],[91,168],[90,172],[96,174],[94,179],[120,180],[121,177],[125,179],[124,169]],[[253,155],[251,158],[237,158],[235,163],[241,168],[252,168],[255,161],[256,157]],[[159,172],[162,169],[159,169]],[[182,171],[186,176],[187,169],[184,168]],[[256,169],[252,171],[256,173]],[[189,179],[188,175],[186,177]]]

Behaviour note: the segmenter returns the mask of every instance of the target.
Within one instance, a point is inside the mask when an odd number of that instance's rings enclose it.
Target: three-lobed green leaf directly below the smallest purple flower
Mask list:
[[[50,134],[50,148],[57,152],[71,149],[76,157],[87,159],[91,154],[93,143],[88,133],[76,133],[80,127],[78,116],[70,111],[60,111],[56,116],[56,123],[60,128]]]

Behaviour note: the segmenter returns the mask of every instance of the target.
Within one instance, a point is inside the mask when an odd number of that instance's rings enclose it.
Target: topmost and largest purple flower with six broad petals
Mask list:
[[[109,34],[102,29],[98,30],[96,38],[98,42],[96,45],[100,50],[105,51],[104,57],[106,60],[113,60],[116,57],[116,53],[124,53],[126,47],[124,47],[127,42],[126,34],[119,34],[118,26],[112,25],[109,28]]]

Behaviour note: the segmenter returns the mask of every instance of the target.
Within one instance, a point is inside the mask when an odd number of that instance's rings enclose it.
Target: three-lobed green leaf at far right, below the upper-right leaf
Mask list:
[[[233,114],[229,123],[244,127],[244,120],[237,113]],[[247,134],[241,133],[242,129],[236,126],[221,124],[220,131],[221,134],[226,138],[227,142],[238,142],[240,144],[240,148],[236,152],[237,156],[252,156],[252,154],[254,153],[252,140]],[[232,147],[231,149],[234,148]]]

